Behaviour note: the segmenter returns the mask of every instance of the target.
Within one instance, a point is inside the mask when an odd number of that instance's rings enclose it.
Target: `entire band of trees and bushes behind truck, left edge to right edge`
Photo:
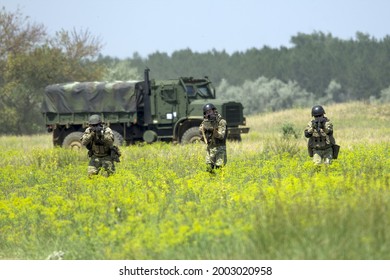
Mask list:
[[[59,30],[30,21],[20,10],[0,10],[0,134],[44,131],[41,103],[47,85],[71,81],[208,76],[218,98],[241,101],[247,115],[351,100],[390,101],[390,37],[356,33],[298,33],[289,48],[252,48],[228,54],[191,49],[146,58],[103,56],[88,30]]]

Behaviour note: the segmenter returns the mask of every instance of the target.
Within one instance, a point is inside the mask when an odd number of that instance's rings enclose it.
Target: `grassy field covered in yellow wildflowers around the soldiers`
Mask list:
[[[0,259],[390,259],[390,104],[325,110],[341,151],[319,169],[310,108],[249,117],[216,174],[201,143],[122,147],[88,179],[86,151],[0,137]]]

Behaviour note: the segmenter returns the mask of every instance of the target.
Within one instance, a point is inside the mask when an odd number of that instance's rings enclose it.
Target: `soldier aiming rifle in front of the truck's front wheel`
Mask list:
[[[226,120],[217,112],[216,107],[209,103],[203,106],[203,122],[199,126],[202,140],[207,144],[207,171],[220,168],[226,164]]]

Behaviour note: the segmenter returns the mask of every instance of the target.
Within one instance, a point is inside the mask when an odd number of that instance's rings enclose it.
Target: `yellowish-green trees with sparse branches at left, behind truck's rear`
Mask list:
[[[61,30],[48,38],[42,25],[3,8],[0,33],[0,133],[43,130],[40,105],[47,85],[102,76],[104,68],[94,60],[101,44],[89,31]]]

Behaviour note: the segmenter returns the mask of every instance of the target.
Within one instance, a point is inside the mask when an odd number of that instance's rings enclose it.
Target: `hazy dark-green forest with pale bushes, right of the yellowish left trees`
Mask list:
[[[289,48],[252,48],[231,55],[190,49],[133,54],[127,61],[152,76],[209,76],[219,97],[241,100],[247,114],[314,103],[351,100],[390,101],[390,36],[381,40],[361,32],[341,40],[330,33],[298,33]],[[102,58],[101,58],[102,59]]]

